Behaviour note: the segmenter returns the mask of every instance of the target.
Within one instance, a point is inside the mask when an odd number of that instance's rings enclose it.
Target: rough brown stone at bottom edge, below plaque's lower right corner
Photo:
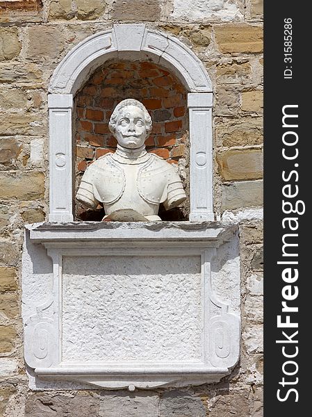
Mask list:
[[[226,391],[208,403],[209,417],[250,417],[248,391]]]

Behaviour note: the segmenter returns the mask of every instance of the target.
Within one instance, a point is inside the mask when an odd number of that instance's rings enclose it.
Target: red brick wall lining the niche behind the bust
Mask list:
[[[173,74],[149,62],[110,63],[95,72],[75,97],[76,188],[83,172],[100,156],[115,152],[117,142],[108,129],[115,106],[126,98],[142,101],[153,120],[145,145],[176,165],[188,195],[188,111],[186,90]],[[188,202],[179,211],[163,213],[163,220],[185,220]],[[103,209],[86,211],[76,204],[76,217],[101,220]]]

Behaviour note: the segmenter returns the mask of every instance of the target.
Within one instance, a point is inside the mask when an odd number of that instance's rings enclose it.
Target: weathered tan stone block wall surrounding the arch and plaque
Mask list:
[[[0,1],[0,416],[260,417],[262,1],[129,3]],[[241,359],[231,377],[213,386],[34,393],[23,361],[20,265],[24,224],[47,215],[47,86],[69,50],[113,22],[146,22],[172,33],[202,60],[213,81],[215,213],[240,223]]]

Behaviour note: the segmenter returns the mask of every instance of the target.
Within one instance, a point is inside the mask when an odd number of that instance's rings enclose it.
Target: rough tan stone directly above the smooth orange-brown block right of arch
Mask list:
[[[263,142],[262,117],[242,117],[217,124],[217,145],[224,147],[261,145]]]

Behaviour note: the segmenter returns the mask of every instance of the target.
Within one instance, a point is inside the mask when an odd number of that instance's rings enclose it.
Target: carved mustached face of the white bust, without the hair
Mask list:
[[[136,106],[121,109],[116,122],[115,138],[122,147],[136,149],[147,138],[144,112]]]

